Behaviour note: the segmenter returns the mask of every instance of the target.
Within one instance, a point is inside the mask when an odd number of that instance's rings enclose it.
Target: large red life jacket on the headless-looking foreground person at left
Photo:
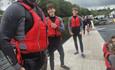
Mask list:
[[[16,48],[17,48],[17,59],[18,62],[21,63],[21,55],[29,54],[29,53],[36,53],[41,52],[47,49],[47,34],[46,34],[46,21],[42,21],[41,18],[37,15],[37,13],[28,5],[23,2],[20,4],[28,10],[28,12],[33,17],[33,27],[27,32],[24,39],[21,41],[16,40]],[[20,51],[20,44],[24,43],[26,50]]]

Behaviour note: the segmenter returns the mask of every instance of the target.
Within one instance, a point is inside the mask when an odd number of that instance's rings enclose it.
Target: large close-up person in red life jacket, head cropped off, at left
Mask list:
[[[25,70],[40,70],[47,61],[46,20],[36,1],[18,0],[7,8],[2,17],[0,50],[16,70],[21,66]]]

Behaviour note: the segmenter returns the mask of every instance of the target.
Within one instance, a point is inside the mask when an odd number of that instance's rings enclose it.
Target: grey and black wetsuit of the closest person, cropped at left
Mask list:
[[[38,7],[31,7],[43,20],[44,18],[42,11]],[[15,66],[15,68],[19,68],[20,65],[17,62],[17,58],[13,51],[13,47],[10,44],[10,41],[12,38],[16,37],[18,28],[20,27],[20,24],[23,22],[24,19],[25,21],[22,26],[24,27],[24,33],[26,35],[26,33],[33,26],[32,15],[19,2],[15,2],[11,6],[9,6],[5,11],[0,25],[0,50],[3,51],[5,56],[8,56],[8,58],[12,62],[12,65]],[[44,58],[46,58],[46,56],[43,51],[32,54],[22,54],[22,58],[24,60],[24,67],[26,68],[26,70],[40,70],[42,64],[44,63]]]

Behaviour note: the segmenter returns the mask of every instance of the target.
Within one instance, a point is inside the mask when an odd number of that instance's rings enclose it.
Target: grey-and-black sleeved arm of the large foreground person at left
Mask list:
[[[0,24],[0,50],[2,50],[4,55],[9,58],[10,63],[16,70],[19,70],[21,66],[17,62],[17,58],[10,41],[15,37],[21,20],[22,13],[19,7],[13,4],[5,11]]]

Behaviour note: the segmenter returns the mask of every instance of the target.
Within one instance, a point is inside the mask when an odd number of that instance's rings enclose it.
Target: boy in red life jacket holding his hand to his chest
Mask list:
[[[60,17],[55,15],[56,9],[53,3],[47,5],[47,25],[48,25],[48,53],[50,57],[50,67],[54,70],[54,52],[57,50],[60,54],[61,67],[69,70],[69,67],[64,65],[64,50],[61,44],[61,32],[64,31],[64,24]]]

